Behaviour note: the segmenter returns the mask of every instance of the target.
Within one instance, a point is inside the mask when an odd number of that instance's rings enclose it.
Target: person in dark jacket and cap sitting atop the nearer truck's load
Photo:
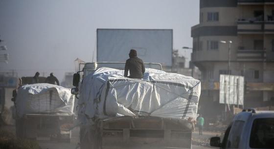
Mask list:
[[[125,64],[124,76],[128,78],[142,79],[145,73],[144,62],[137,57],[137,51],[131,49],[129,53],[129,59],[127,59]],[[128,76],[128,71],[130,76]]]

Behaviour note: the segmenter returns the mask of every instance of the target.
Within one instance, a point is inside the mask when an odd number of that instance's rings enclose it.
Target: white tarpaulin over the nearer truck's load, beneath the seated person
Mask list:
[[[124,70],[101,67],[80,86],[78,118],[94,116],[197,117],[201,83],[192,77],[146,68],[143,79],[123,76]]]

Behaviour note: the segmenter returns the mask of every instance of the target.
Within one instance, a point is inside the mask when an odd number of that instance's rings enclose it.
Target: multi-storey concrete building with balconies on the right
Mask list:
[[[191,36],[192,61],[202,72],[200,112],[223,111],[220,74],[245,76],[245,107],[274,106],[274,0],[200,0]]]

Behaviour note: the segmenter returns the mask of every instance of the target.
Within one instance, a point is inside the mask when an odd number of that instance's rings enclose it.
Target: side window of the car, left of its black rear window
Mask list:
[[[238,149],[244,124],[244,121],[234,122],[228,138],[228,149]]]

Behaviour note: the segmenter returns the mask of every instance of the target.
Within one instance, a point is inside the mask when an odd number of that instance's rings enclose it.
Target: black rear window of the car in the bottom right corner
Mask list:
[[[253,121],[250,148],[273,149],[274,118],[258,118]]]

